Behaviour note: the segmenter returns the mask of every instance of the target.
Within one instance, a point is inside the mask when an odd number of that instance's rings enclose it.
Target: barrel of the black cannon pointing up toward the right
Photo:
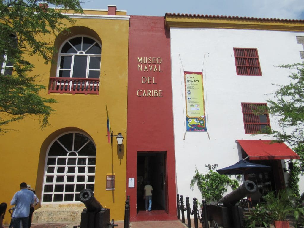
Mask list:
[[[247,195],[251,195],[257,191],[257,185],[253,181],[244,181],[240,187],[233,192],[225,195],[219,200],[219,203],[223,203],[224,206],[234,206],[237,202],[243,199]]]

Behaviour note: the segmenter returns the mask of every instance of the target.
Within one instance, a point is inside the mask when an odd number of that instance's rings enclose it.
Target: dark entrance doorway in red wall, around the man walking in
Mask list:
[[[137,212],[145,210],[143,199],[147,181],[153,187],[152,210],[168,211],[166,151],[137,153]]]

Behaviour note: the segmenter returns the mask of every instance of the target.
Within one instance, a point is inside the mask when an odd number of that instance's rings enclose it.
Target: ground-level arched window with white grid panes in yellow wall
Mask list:
[[[79,201],[79,192],[94,192],[96,148],[79,132],[65,133],[47,151],[42,202]]]

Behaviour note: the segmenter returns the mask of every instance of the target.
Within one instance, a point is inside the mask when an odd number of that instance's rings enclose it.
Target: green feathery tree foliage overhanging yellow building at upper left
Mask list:
[[[0,133],[12,121],[26,116],[40,119],[41,129],[49,125],[54,112],[49,104],[55,99],[40,96],[45,86],[31,71],[34,65],[25,56],[42,56],[45,63],[52,60],[54,43],[50,34],[59,34],[65,22],[74,20],[66,12],[81,13],[79,0],[44,1],[56,8],[41,7],[37,0],[2,0],[0,2]],[[13,66],[13,71],[12,67]]]

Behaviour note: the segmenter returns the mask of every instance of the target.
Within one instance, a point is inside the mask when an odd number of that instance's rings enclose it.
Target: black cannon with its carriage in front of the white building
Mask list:
[[[207,210],[203,210],[204,218],[201,220],[203,227],[206,226],[206,223],[203,221],[206,218],[207,221],[216,223],[216,226],[224,228],[244,227],[243,208],[238,206],[238,202],[256,191],[257,186],[255,183],[247,180],[233,192],[220,199],[217,205],[206,205],[206,201],[203,200],[203,207],[207,208]]]

